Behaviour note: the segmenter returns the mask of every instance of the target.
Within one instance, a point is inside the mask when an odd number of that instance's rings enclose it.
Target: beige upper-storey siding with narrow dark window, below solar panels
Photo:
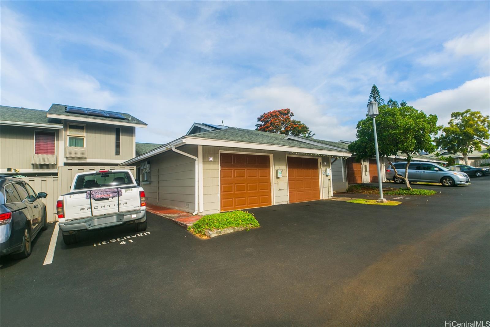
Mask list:
[[[65,122],[66,146],[68,146],[68,124],[85,125],[87,160],[126,161],[133,158],[134,127],[90,122]],[[116,128],[121,129],[121,155],[119,156],[116,156]]]

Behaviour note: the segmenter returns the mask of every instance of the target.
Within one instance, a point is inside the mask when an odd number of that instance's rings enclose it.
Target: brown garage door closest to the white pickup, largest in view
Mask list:
[[[220,154],[221,211],[272,204],[269,156]]]

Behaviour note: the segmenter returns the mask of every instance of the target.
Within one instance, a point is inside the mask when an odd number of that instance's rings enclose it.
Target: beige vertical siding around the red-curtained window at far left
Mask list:
[[[33,169],[34,132],[45,131],[55,133],[55,154],[58,149],[58,130],[23,127],[0,126],[0,168]],[[22,172],[22,170],[21,170]]]

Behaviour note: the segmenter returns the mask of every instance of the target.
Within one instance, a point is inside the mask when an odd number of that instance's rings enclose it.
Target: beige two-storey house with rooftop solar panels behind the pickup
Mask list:
[[[56,174],[58,166],[117,165],[136,156],[127,113],[53,104],[48,111],[0,107],[0,172]]]

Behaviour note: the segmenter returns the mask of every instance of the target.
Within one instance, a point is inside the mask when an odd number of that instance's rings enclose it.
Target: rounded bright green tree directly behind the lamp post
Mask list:
[[[366,117],[360,120],[356,128],[356,140],[349,144],[349,151],[356,154],[358,161],[375,157],[372,118]],[[433,137],[440,129],[437,126],[437,116],[432,114],[427,116],[423,111],[410,106],[399,108],[383,105],[379,107],[376,128],[380,157],[387,158],[395,176],[404,180],[407,189],[411,189],[408,180],[408,166],[412,161],[411,155],[422,151],[436,151]],[[398,174],[389,158],[396,156],[398,152],[407,156],[405,176]]]

